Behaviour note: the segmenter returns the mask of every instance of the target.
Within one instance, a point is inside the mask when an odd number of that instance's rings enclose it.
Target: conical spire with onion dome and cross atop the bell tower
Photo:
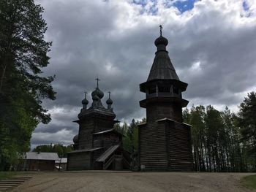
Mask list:
[[[168,40],[162,37],[162,26],[160,27],[160,37],[158,37],[154,44],[157,47],[156,56],[154,58],[154,63],[151,66],[150,73],[148,75],[148,80],[179,80],[178,75],[170,61],[166,46],[168,45]]]

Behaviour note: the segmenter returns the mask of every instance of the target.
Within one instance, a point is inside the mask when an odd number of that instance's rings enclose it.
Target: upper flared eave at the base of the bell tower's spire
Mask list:
[[[146,81],[140,84],[140,91],[143,93],[146,93],[147,88],[151,87],[152,85],[175,85],[176,87],[180,88],[181,91],[186,91],[187,89],[187,82],[182,82],[180,80],[175,79],[169,79],[169,80],[163,80],[163,79],[155,79]]]

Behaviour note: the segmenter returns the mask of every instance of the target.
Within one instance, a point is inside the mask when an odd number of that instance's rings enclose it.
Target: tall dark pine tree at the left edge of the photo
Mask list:
[[[55,99],[53,77],[43,77],[51,42],[43,8],[33,0],[0,1],[0,170],[29,150],[31,133],[50,114],[42,99]]]

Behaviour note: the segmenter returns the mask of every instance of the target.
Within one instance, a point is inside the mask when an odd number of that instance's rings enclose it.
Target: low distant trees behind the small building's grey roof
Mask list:
[[[62,144],[38,145],[33,152],[52,152],[58,153],[60,158],[67,158],[67,153],[74,150],[72,145],[64,146]]]

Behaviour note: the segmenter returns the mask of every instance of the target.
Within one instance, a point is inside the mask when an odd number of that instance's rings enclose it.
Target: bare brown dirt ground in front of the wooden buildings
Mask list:
[[[249,191],[240,184],[249,173],[38,172],[12,191]]]

